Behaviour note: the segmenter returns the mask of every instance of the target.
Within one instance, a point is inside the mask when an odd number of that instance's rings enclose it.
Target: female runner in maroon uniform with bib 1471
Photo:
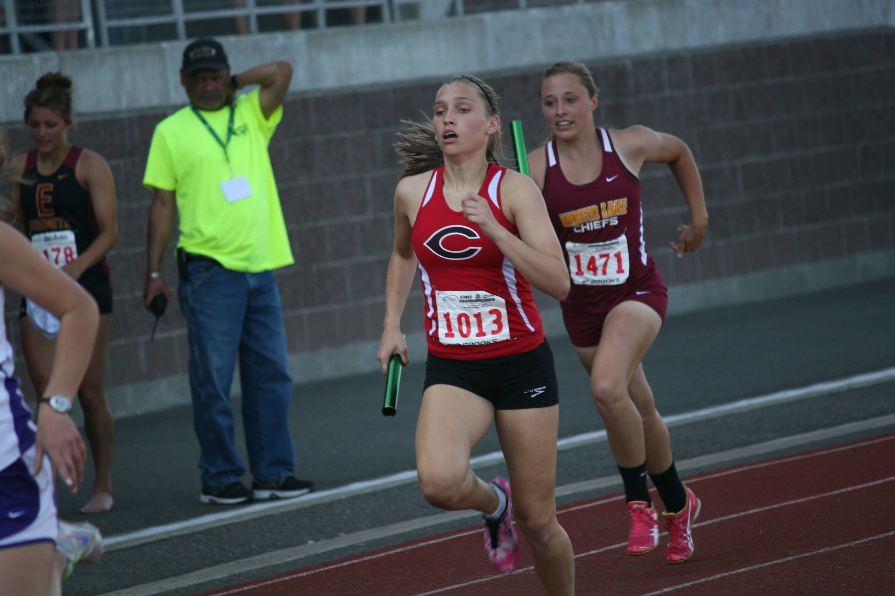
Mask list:
[[[641,365],[668,306],[668,290],[644,243],[641,167],[669,164],[684,192],[690,224],[678,228],[678,243],[671,244],[678,257],[699,248],[709,218],[684,142],[643,126],[595,128],[597,93],[582,63],[557,63],[544,73],[541,108],[550,142],[529,155],[529,164],[573,282],[560,303],[563,320],[591,374],[593,399],[625,483],[631,514],[627,551],[638,555],[659,543],[649,473],[667,509],[666,560],[680,563],[693,553],[690,528],[701,503],[678,478],[668,428]]]

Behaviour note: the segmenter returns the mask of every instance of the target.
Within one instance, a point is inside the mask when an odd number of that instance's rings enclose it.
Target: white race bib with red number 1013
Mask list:
[[[483,291],[435,292],[439,342],[483,346],[509,339],[507,302]]]

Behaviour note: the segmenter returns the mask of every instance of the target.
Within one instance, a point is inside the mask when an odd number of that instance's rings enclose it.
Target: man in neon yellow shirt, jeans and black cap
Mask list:
[[[190,344],[192,416],[203,503],[284,499],[312,490],[294,477],[288,412],[293,382],[273,269],[292,264],[268,143],[292,80],[286,62],[232,75],[224,47],[202,38],[183,50],[190,105],[158,123],[143,184],[149,212],[146,306],[163,294],[159,273],[180,215],[177,298]],[[260,85],[235,97],[236,89]],[[230,384],[239,358],[251,490],[234,447]]]

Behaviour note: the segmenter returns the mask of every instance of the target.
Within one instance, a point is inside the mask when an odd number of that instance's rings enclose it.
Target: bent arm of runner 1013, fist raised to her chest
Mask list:
[[[571,282],[541,192],[528,176],[507,170],[500,181],[500,196],[504,214],[516,225],[519,238],[494,218],[488,199],[474,193],[462,202],[466,220],[477,224],[535,288],[564,300]]]

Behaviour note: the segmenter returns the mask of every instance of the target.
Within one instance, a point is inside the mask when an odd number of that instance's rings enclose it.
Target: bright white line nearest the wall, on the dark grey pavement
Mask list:
[[[816,398],[838,391],[852,390],[882,382],[895,380],[895,366],[885,368],[874,373],[856,374],[838,381],[821,382],[798,389],[777,391],[757,398],[740,399],[721,406],[706,407],[692,412],[666,416],[665,423],[669,426],[690,424],[716,418],[729,416],[740,412],[746,412],[759,407],[768,407],[797,399]],[[584,432],[557,441],[558,449],[573,449],[589,443],[605,441],[606,432]],[[470,466],[474,469],[482,466],[493,466],[503,461],[503,452],[492,451],[484,455],[470,459]],[[381,491],[401,484],[413,483],[416,480],[416,470],[406,470],[397,474],[390,474],[381,478],[366,480],[358,483],[345,484],[328,491],[311,492],[310,494],[282,501],[257,503],[243,508],[232,509],[207,516],[194,517],[173,524],[155,525],[136,532],[110,536],[105,540],[107,552],[145,544],[151,541],[163,540],[179,536],[185,533],[200,532],[220,525],[235,524],[261,516],[269,516],[283,513],[297,508],[320,505],[336,499],[345,499],[373,491]],[[559,495],[558,495],[559,496]]]

